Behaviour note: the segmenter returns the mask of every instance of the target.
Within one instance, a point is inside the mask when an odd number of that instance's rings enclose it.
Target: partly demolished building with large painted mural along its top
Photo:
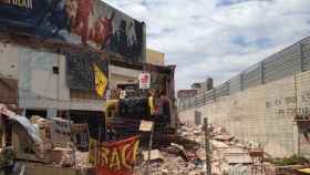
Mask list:
[[[143,71],[175,100],[175,66],[146,63],[144,22],[100,0],[30,1],[0,1],[1,103],[28,117],[87,123],[92,136],[105,100]],[[104,99],[95,93],[93,64],[108,79]]]

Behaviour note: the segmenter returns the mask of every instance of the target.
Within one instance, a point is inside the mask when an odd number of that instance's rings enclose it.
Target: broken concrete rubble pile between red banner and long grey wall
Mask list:
[[[273,175],[275,166],[257,162],[250,155],[249,146],[241,144],[226,130],[218,125],[208,126],[210,133],[211,172],[213,175]],[[170,143],[169,146],[152,151],[151,162],[147,157],[138,163],[136,175],[200,175],[206,173],[205,132],[202,125],[183,125],[178,135],[199,146],[188,147],[186,142]],[[146,154],[146,152],[144,152]],[[264,154],[264,153],[262,153]],[[259,161],[259,159],[258,159]]]

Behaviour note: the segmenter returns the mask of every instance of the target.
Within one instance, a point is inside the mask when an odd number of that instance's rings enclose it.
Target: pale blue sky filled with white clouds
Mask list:
[[[147,47],[176,64],[177,89],[221,83],[310,35],[310,0],[104,0],[147,25]]]

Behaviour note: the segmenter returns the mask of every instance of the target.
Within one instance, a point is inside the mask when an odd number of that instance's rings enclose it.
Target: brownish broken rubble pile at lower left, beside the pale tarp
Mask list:
[[[76,146],[73,146],[74,144],[71,141],[73,135],[71,127],[73,124],[71,121],[59,117],[46,120],[40,116],[32,116],[30,122],[39,130],[39,135],[42,140],[42,142],[33,145],[34,161],[59,167],[75,166],[85,168],[93,166],[89,163],[89,152],[81,152],[76,150]],[[17,142],[18,145],[24,144],[19,140]]]

